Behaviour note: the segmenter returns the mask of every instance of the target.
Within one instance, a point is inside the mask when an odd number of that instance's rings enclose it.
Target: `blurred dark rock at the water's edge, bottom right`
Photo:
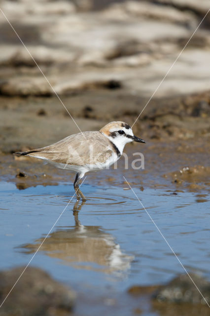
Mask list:
[[[210,282],[203,276],[194,273],[191,273],[190,276],[210,304]],[[153,298],[158,302],[207,304],[187,274],[175,277],[158,289]]]

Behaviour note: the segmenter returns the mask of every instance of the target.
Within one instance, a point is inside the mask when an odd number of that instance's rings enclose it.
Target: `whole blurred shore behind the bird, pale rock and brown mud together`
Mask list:
[[[72,180],[68,172],[11,156],[77,133],[70,115],[82,131],[99,130],[112,120],[132,125],[207,9],[205,1],[202,8],[196,1],[186,1],[185,8],[179,1],[101,2],[101,10],[97,1],[59,3],[45,0],[29,9],[25,0],[12,5],[1,0],[4,14],[35,58],[1,14],[1,178],[20,188]],[[137,151],[144,155],[144,170],[126,171],[137,186],[208,188],[208,21],[209,16],[133,127],[146,141],[126,148],[129,158]],[[122,184],[122,165],[89,178]]]

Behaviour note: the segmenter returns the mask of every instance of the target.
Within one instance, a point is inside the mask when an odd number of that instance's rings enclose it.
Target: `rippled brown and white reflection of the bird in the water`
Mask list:
[[[80,223],[78,214],[83,204],[84,202],[79,206],[78,203],[74,205],[75,226],[51,233],[39,251],[76,269],[121,276],[128,271],[134,257],[123,254],[114,237],[105,233],[100,226],[83,226]],[[33,244],[23,247],[28,249],[27,253],[34,253],[43,239],[44,237],[36,239]]]

